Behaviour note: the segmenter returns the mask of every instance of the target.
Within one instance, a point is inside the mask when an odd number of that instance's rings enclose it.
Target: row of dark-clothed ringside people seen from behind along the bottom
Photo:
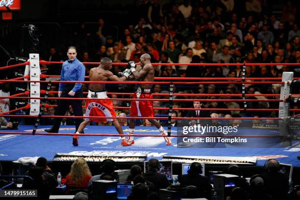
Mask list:
[[[84,200],[93,200],[100,193],[94,189],[93,181],[118,179],[115,174],[115,170],[118,168],[115,161],[105,159],[100,165],[101,174],[92,176],[85,159],[77,158],[67,175],[67,188],[64,194],[75,195],[75,200],[83,200],[79,199],[78,196],[82,196]],[[207,176],[201,175],[202,170],[200,163],[193,162],[190,164],[186,175],[179,175],[178,181],[182,188],[182,198],[215,200],[214,186]],[[252,175],[251,178],[247,179],[243,177],[243,172],[238,165],[230,164],[223,171],[223,174],[236,175],[236,179],[234,186],[230,190],[227,188],[226,199],[296,200],[300,197],[300,187],[292,187],[288,175],[280,171],[279,162],[276,159],[267,160],[264,170],[265,172]],[[40,157],[36,165],[29,168],[26,175],[32,177],[33,181],[25,181],[23,189],[37,189],[41,200],[47,200],[50,195],[57,194],[55,187],[58,184],[51,169],[47,166],[46,158]],[[9,184],[4,180],[0,180],[0,183],[2,186]],[[128,194],[127,200],[163,200],[160,189],[168,189],[172,185],[166,175],[160,173],[160,163],[155,158],[148,161],[148,172],[146,173],[142,172],[139,165],[132,165],[126,183],[132,184],[131,194]],[[184,187],[186,187],[185,190]]]

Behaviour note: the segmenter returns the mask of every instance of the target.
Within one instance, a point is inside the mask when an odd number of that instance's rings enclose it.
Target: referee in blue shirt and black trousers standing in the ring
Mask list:
[[[85,67],[76,58],[76,48],[73,46],[69,47],[67,55],[69,60],[65,61],[62,65],[60,80],[84,81]],[[83,98],[81,85],[82,83],[59,83],[58,97]],[[83,116],[81,100],[58,100],[55,115],[65,115],[70,105],[72,106],[75,116]],[[55,118],[54,125],[49,129],[45,129],[45,131],[49,133],[57,133],[61,120],[62,118]],[[82,119],[75,119],[76,130],[81,122]]]

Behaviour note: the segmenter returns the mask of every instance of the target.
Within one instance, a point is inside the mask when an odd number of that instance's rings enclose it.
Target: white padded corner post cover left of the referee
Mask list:
[[[40,63],[39,54],[30,53],[30,80],[40,80]],[[40,83],[31,82],[30,83],[30,97],[40,97]],[[30,100],[30,115],[39,115],[40,113],[40,100]]]

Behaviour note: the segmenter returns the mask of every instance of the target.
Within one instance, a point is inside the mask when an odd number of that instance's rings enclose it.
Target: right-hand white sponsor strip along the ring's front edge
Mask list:
[[[174,163],[193,163],[199,162],[204,164],[246,164],[256,165],[256,157],[227,157],[227,156],[182,156],[170,155],[163,156],[163,160],[172,160]]]

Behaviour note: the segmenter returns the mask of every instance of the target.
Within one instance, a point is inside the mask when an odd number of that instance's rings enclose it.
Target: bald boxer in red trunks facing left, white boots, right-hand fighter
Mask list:
[[[150,62],[150,55],[145,53],[140,57],[141,69],[136,71],[136,65],[134,62],[130,61],[128,63],[131,71],[131,75],[136,80],[141,81],[154,81],[154,68]],[[134,99],[153,99],[151,94],[152,84],[140,84],[137,91],[134,93]],[[130,116],[142,116],[142,117],[154,117],[153,111],[153,101],[131,101]],[[152,125],[155,125],[162,135],[168,135],[167,131],[159,124],[155,119],[148,119]],[[133,134],[134,134],[134,119],[129,122],[129,145],[134,144]],[[172,140],[170,137],[164,137],[167,145],[172,145]]]

